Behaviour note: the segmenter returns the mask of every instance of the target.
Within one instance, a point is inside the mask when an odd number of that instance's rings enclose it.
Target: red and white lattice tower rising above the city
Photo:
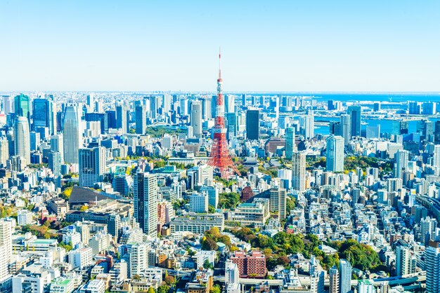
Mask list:
[[[237,167],[231,159],[229,154],[228,141],[226,140],[226,127],[224,117],[224,101],[221,86],[223,80],[221,79],[221,53],[219,53],[219,79],[217,79],[217,105],[216,117],[214,125],[214,142],[212,144],[211,155],[209,156],[208,165],[216,168],[221,177],[228,179],[233,175],[233,172],[240,174]]]

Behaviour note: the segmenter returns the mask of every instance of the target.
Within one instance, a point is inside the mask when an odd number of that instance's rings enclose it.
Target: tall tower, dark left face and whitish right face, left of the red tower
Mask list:
[[[138,172],[134,177],[134,217],[145,234],[157,236],[157,177]]]

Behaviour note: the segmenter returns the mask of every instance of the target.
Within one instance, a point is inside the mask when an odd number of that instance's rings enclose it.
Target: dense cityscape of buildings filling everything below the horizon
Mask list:
[[[438,99],[216,86],[1,93],[0,292],[440,292]]]

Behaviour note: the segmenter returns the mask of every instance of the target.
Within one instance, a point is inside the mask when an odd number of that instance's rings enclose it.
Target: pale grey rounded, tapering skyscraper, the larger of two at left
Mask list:
[[[77,164],[79,158],[79,146],[82,145],[82,133],[79,127],[81,122],[79,105],[67,105],[64,112],[63,125],[63,151],[64,161],[70,164]]]

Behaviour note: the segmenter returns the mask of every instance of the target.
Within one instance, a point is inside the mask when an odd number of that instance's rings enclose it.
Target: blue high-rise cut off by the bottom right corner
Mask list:
[[[440,243],[429,240],[425,250],[426,292],[440,292]]]

